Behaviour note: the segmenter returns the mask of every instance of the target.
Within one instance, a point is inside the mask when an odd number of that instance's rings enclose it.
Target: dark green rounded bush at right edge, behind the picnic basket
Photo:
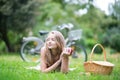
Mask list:
[[[110,46],[118,52],[120,51],[120,27],[108,29],[102,39],[104,45]]]

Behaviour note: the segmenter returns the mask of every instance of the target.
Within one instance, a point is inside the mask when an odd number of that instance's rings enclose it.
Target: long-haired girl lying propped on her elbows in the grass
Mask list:
[[[51,31],[41,49],[41,71],[67,73],[71,54],[72,49],[65,48],[63,35],[59,31]]]

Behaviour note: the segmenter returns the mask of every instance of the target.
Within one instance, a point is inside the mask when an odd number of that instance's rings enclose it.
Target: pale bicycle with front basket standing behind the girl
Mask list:
[[[71,47],[73,49],[73,58],[81,57],[83,62],[87,61],[87,53],[83,45],[76,43],[76,41],[81,39],[82,30],[71,30],[72,26],[68,24],[63,24],[58,26],[60,30],[66,29],[68,31],[68,36],[66,37],[66,47]],[[79,34],[75,34],[79,33]],[[39,34],[42,38],[38,37],[24,37],[23,44],[21,46],[20,56],[26,62],[40,62],[40,49],[44,45],[45,36],[48,31],[40,31]]]

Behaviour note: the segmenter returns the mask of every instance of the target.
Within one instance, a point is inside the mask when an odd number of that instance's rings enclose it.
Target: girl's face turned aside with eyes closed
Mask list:
[[[55,39],[55,35],[50,34],[48,38],[46,39],[46,45],[49,49],[55,49],[57,48],[57,43]]]

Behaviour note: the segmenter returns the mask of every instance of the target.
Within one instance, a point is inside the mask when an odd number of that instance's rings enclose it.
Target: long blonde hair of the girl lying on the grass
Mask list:
[[[64,47],[65,47],[65,39],[64,39],[64,36],[62,35],[61,32],[59,31],[51,31],[49,34],[48,34],[48,37],[49,35],[53,34],[55,36],[55,39],[56,39],[56,44],[57,44],[57,57],[59,59],[60,57],[60,54],[62,53]],[[54,58],[52,57],[51,55],[51,50],[48,49],[47,45],[46,45],[46,42],[45,42],[45,56],[46,56],[46,64],[48,66],[51,66],[53,63],[54,63]]]

